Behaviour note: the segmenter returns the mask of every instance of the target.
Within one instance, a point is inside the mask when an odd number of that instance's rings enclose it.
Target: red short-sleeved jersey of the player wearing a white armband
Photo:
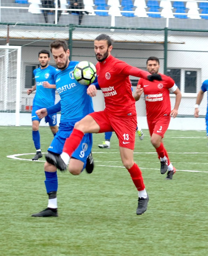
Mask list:
[[[151,120],[157,120],[161,116],[170,115],[171,102],[169,89],[174,92],[177,85],[171,77],[160,74],[162,81],[148,81],[139,79],[137,85],[144,89],[146,103],[146,117]]]

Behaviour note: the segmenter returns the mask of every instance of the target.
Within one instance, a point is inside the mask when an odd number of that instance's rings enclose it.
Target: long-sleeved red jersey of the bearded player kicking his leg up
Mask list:
[[[135,99],[129,75],[147,79],[149,72],[132,67],[110,55],[96,64],[98,84],[105,98],[106,110],[112,114],[135,115]]]

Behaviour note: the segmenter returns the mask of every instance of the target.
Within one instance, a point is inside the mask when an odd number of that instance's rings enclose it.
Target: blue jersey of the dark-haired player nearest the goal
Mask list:
[[[40,108],[54,105],[56,89],[44,88],[43,82],[48,81],[49,84],[55,84],[55,73],[57,73],[57,69],[50,65],[46,67],[46,69],[38,67],[38,69],[33,71],[36,82],[36,93],[33,105]]]

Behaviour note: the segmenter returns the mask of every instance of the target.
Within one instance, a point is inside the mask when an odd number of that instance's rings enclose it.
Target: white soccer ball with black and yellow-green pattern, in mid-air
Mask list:
[[[91,62],[81,61],[74,67],[74,78],[80,84],[92,84],[96,75],[96,68]]]

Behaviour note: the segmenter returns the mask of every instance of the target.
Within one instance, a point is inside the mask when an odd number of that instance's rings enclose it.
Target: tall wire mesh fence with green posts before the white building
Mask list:
[[[1,22],[0,45],[22,46],[20,110],[31,110],[33,94],[28,97],[26,91],[34,83],[32,71],[39,64],[38,51],[49,50],[50,42],[62,38],[69,44],[70,59],[88,60],[95,64],[93,41],[101,33],[113,39],[112,55],[132,66],[146,69],[146,59],[157,56],[160,59],[160,72],[170,75],[182,92],[179,115],[193,115],[196,93],[203,80],[208,78],[205,65],[208,58],[208,30]],[[50,63],[55,65],[52,59]],[[137,78],[130,79],[133,86],[137,84]],[[174,105],[174,95],[171,95],[171,104]],[[138,115],[145,116],[144,98],[137,102],[136,107]],[[201,103],[201,114],[206,114],[206,99]]]

